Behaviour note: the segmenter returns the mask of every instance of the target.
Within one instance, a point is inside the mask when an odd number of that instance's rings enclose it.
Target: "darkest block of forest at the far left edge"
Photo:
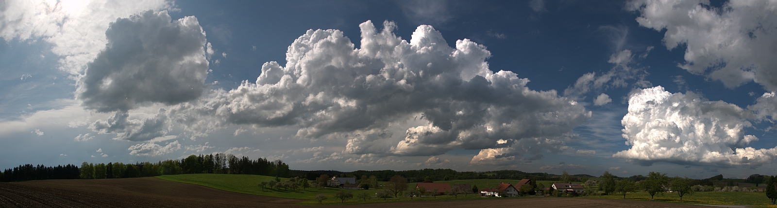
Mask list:
[[[44,179],[78,179],[77,165],[19,165],[13,169],[5,169],[0,172],[0,182],[24,181],[24,180],[44,180]]]

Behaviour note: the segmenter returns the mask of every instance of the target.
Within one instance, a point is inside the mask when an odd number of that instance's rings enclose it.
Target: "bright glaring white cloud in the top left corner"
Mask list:
[[[107,43],[108,23],[148,9],[173,9],[165,0],[7,0],[0,7],[0,38],[43,39],[61,56],[60,69],[82,74]]]

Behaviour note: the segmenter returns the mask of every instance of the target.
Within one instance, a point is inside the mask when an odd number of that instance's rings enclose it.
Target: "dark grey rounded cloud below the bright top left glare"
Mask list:
[[[200,97],[208,62],[197,18],[172,21],[166,11],[117,19],[108,43],[78,80],[78,99],[97,111],[128,111],[141,104],[179,104]]]

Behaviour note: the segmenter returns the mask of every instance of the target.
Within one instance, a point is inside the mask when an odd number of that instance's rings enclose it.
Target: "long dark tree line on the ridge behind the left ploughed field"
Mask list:
[[[224,153],[211,155],[190,155],[185,159],[169,159],[156,163],[122,162],[89,163],[77,165],[19,165],[0,172],[0,182],[40,179],[119,179],[147,176],[177,175],[190,173],[251,174],[263,176],[290,177],[291,170],[286,163],[267,159],[251,160]]]

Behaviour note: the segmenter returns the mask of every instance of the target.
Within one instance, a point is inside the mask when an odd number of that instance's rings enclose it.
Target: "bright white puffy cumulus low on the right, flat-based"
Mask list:
[[[615,158],[643,165],[653,162],[679,164],[747,165],[771,163],[777,149],[747,147],[758,141],[744,135],[751,127],[747,111],[723,101],[706,101],[688,92],[671,94],[664,87],[639,90],[629,97],[629,113],[623,117],[623,138],[628,150]]]

